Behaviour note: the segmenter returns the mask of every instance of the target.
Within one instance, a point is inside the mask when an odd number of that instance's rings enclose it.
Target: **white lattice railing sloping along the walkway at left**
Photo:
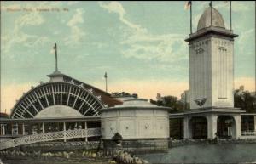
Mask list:
[[[101,136],[101,128],[75,129],[51,133],[39,133],[26,135],[20,138],[3,140],[0,142],[0,150],[38,142],[53,141],[59,139],[75,139]]]

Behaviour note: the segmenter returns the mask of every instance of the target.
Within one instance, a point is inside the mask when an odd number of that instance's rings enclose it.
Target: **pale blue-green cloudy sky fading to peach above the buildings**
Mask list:
[[[189,89],[189,10],[179,2],[1,1],[1,109],[59,71],[108,92],[180,97]],[[193,2],[192,24],[209,1]],[[229,3],[212,2],[230,28]],[[254,2],[232,2],[235,88],[255,90]]]

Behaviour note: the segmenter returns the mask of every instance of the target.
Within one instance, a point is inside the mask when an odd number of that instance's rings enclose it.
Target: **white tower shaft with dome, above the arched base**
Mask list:
[[[212,12],[212,14],[211,14]],[[212,25],[211,25],[212,17]],[[208,7],[189,42],[190,108],[234,107],[234,38],[218,10]]]

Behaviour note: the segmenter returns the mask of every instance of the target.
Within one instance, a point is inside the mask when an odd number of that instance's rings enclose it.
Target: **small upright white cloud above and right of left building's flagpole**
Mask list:
[[[84,9],[78,8],[76,9],[75,14],[71,20],[67,22],[67,26],[70,27],[71,34],[65,38],[66,45],[77,45],[80,44],[85,36],[84,30],[81,30],[79,25],[84,23]]]

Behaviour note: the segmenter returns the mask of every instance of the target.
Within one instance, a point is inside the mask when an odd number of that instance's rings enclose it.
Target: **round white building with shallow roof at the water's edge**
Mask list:
[[[105,148],[111,147],[113,135],[119,133],[125,150],[167,150],[169,108],[152,105],[147,99],[129,98],[123,102],[101,110]]]

